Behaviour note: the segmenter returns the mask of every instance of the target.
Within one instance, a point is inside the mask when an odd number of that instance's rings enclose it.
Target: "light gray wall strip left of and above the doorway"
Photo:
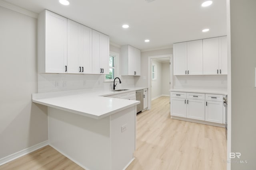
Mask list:
[[[135,86],[148,87],[148,57],[172,53],[172,48],[141,52],[141,76],[135,77]]]

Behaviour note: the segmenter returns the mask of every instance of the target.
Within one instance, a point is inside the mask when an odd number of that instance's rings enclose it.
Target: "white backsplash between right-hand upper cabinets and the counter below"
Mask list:
[[[227,90],[227,75],[173,76],[173,88]]]

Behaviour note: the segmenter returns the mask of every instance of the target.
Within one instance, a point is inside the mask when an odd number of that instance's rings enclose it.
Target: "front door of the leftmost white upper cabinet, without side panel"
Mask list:
[[[65,73],[67,66],[67,18],[45,14],[45,72]],[[68,68],[67,68],[68,69]]]

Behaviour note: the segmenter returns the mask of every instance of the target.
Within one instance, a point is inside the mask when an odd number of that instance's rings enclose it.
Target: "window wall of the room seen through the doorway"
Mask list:
[[[162,63],[155,59],[152,59],[151,62],[152,65],[156,65],[156,80],[151,80],[151,100],[154,100],[162,96]]]

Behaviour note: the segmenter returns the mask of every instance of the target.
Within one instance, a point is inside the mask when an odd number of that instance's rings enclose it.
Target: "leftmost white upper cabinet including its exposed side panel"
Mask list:
[[[67,18],[47,10],[38,16],[38,72],[67,72]]]

